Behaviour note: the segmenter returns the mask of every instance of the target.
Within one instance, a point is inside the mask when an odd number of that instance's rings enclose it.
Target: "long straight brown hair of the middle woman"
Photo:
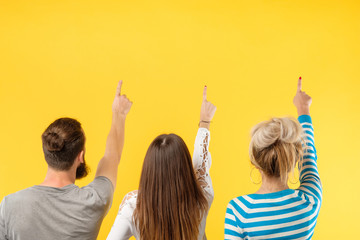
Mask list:
[[[134,221],[143,240],[193,240],[208,210],[189,150],[175,134],[150,144],[143,163]]]

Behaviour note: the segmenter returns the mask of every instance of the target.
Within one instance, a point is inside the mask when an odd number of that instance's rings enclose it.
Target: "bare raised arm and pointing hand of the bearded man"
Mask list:
[[[100,160],[96,177],[105,176],[109,178],[116,187],[118,165],[124,147],[125,119],[130,111],[132,102],[121,95],[122,81],[116,88],[115,99],[112,105],[112,123],[109,135],[106,140],[106,149],[103,158]]]

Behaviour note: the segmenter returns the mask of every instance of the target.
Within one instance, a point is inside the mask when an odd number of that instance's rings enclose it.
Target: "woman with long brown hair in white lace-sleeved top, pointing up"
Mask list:
[[[214,197],[209,127],[216,111],[206,100],[206,90],[205,86],[193,159],[178,135],[156,137],[145,156],[139,189],[124,197],[108,240],[206,239],[206,217]]]

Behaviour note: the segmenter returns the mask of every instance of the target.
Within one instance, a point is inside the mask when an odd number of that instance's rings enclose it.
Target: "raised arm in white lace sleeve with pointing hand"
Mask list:
[[[203,101],[200,110],[199,130],[195,139],[193,166],[200,186],[210,194],[214,195],[210,178],[211,155],[209,152],[210,122],[214,117],[216,107],[207,101],[207,87],[204,87]]]

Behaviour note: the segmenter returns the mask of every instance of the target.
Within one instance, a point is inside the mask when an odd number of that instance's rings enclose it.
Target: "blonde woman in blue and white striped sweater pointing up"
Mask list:
[[[261,173],[261,186],[230,201],[225,239],[311,239],[322,200],[311,101],[301,90],[300,77],[293,101],[298,121],[273,118],[253,128],[250,160]],[[288,176],[296,163],[300,187],[289,189]]]

